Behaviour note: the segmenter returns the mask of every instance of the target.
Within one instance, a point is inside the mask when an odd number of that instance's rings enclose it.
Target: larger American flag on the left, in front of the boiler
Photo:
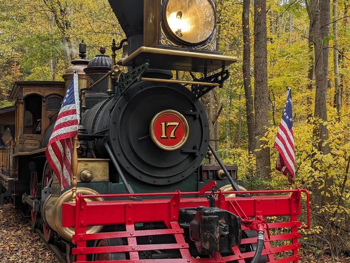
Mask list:
[[[61,185],[61,190],[68,188],[71,184],[72,138],[78,134],[80,116],[78,94],[78,73],[75,70],[63,97],[62,106],[45,153]]]

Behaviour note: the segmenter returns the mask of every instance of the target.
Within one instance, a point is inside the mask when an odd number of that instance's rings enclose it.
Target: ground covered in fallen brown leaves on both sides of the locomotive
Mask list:
[[[40,240],[11,203],[0,209],[0,263],[58,263],[55,255]],[[313,254],[301,250],[301,263],[345,263],[345,257],[332,258],[329,255]]]

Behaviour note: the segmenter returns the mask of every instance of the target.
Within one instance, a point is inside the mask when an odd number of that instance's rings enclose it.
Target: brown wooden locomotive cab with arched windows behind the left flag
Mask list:
[[[65,93],[63,81],[17,81],[10,100],[16,107],[14,154],[43,148],[45,130],[57,118]]]

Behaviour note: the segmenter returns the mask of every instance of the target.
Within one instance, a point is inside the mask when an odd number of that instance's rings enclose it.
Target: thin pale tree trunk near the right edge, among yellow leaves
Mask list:
[[[338,64],[338,28],[337,28],[337,0],[333,0],[333,63],[334,63],[334,90],[335,90],[335,104],[338,112],[338,121],[341,121],[340,111],[342,109],[342,93],[339,86],[339,64]]]

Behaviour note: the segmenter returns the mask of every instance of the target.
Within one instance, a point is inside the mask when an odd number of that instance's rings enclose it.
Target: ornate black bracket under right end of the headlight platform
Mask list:
[[[218,83],[219,84],[219,88],[222,88],[222,86],[224,84],[224,81],[227,80],[229,78],[229,76],[230,76],[230,71],[227,70],[227,69],[225,70],[225,67],[223,66],[221,72],[218,72],[218,73],[210,75],[210,76],[206,76],[203,79],[197,79],[191,72],[190,72],[190,74],[193,77],[194,81],[201,81],[201,82],[208,82],[208,83]],[[196,95],[197,98],[200,98],[205,93],[207,93],[210,90],[212,90],[213,88],[215,88],[215,86],[193,84],[191,86],[191,91],[193,92],[193,94]]]

